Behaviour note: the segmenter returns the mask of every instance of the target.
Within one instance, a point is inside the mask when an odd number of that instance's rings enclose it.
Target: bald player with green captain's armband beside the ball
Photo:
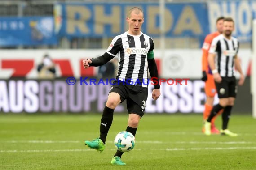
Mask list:
[[[85,144],[93,149],[103,151],[105,149],[106,136],[113,120],[114,109],[119,103],[127,102],[129,113],[128,126],[125,131],[135,136],[138,123],[144,115],[146,100],[148,96],[148,70],[151,77],[158,81],[158,70],[154,60],[154,42],[152,38],[141,32],[144,21],[143,12],[134,7],[129,10],[126,17],[129,29],[124,34],[116,36],[105,54],[96,59],[83,60],[84,68],[106,64],[118,55],[119,69],[112,85],[106,106],[103,110],[100,137],[85,141]],[[155,81],[155,82],[156,82]],[[160,96],[160,85],[154,83],[152,98],[157,100]],[[111,164],[125,165],[121,160],[123,152],[117,150],[111,160]]]

